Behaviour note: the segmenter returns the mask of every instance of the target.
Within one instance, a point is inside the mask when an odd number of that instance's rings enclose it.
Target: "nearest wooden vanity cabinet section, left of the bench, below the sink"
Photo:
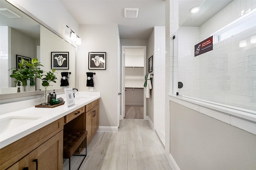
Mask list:
[[[0,169],[36,169],[37,159],[38,170],[62,170],[63,125],[64,117],[0,149]]]

